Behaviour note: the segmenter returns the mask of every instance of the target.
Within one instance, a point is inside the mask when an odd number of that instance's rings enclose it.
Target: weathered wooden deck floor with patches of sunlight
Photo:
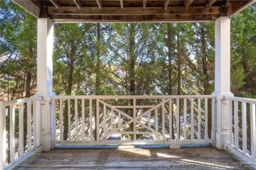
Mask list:
[[[35,154],[15,169],[165,169],[165,166],[167,169],[238,169],[232,163],[242,163],[242,159],[209,146],[181,149],[56,148]]]

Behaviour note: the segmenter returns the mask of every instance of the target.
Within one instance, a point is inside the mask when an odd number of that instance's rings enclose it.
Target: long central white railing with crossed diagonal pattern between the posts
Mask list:
[[[53,145],[215,143],[215,95],[51,99]]]

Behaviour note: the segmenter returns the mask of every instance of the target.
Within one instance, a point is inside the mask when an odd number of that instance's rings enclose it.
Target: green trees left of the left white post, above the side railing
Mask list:
[[[1,1],[0,5],[1,91],[8,93],[9,99],[30,97],[36,86],[37,22],[12,1]]]

